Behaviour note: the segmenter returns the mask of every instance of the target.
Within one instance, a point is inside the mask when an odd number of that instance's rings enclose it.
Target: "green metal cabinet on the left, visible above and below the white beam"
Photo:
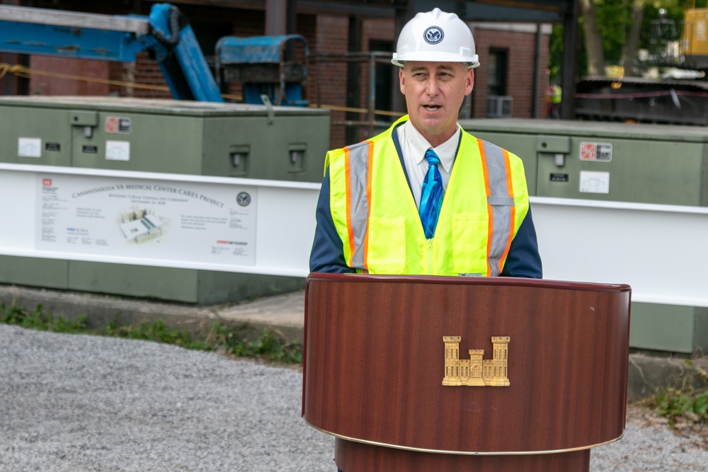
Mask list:
[[[329,111],[110,97],[0,97],[0,162],[319,183]],[[0,283],[216,304],[300,277],[0,256]]]

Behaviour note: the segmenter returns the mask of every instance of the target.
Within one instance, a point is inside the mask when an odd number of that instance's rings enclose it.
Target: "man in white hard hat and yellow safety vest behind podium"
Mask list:
[[[457,123],[478,59],[454,13],[404,26],[392,63],[409,114],[327,153],[312,272],[542,277],[522,161]]]

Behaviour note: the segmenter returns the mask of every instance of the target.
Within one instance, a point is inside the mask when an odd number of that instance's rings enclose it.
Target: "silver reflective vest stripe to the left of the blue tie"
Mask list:
[[[351,190],[351,221],[354,234],[352,267],[364,270],[364,238],[369,222],[369,200],[366,194],[369,178],[369,143],[349,146],[349,170]]]

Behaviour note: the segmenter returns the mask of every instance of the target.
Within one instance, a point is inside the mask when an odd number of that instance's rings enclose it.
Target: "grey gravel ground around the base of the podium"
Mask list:
[[[328,471],[302,374],[179,347],[0,326],[0,471]],[[590,470],[708,471],[706,437],[632,408]]]

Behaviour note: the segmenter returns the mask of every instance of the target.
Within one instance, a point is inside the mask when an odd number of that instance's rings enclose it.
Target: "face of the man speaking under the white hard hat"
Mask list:
[[[399,71],[411,123],[433,146],[452,137],[474,73],[461,62],[406,62]]]

